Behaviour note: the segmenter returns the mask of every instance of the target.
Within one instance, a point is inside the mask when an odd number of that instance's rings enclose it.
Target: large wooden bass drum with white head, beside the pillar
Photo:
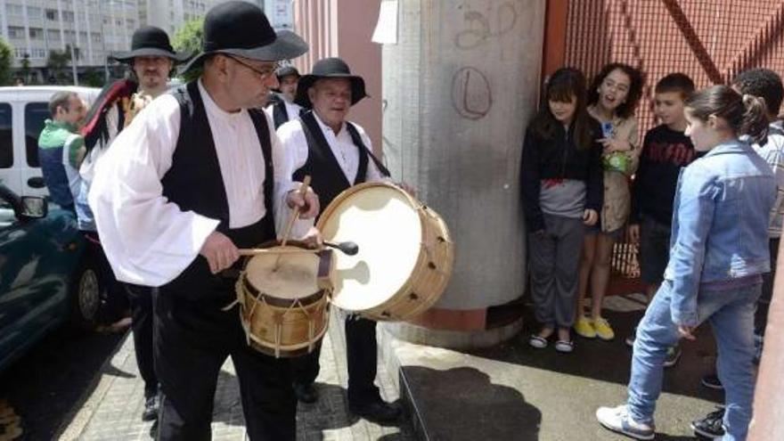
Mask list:
[[[452,275],[453,242],[441,216],[400,187],[355,185],[324,209],[327,241],[354,241],[335,253],[335,306],[373,320],[408,320],[433,306]]]

